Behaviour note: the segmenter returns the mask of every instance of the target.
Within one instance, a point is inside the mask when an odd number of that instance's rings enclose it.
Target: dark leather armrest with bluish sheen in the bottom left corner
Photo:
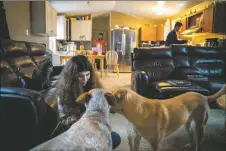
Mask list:
[[[0,150],[28,150],[49,139],[57,116],[40,93],[10,87],[0,93]]]

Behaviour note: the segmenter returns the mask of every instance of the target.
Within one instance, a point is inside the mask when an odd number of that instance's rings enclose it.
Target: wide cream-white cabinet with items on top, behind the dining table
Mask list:
[[[71,40],[80,41],[80,36],[84,35],[84,41],[92,40],[92,20],[71,19]]]

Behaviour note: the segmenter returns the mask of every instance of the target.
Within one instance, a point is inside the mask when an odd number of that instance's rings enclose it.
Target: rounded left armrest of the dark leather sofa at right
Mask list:
[[[133,71],[131,76],[131,89],[146,96],[149,85],[148,75],[144,71]]]

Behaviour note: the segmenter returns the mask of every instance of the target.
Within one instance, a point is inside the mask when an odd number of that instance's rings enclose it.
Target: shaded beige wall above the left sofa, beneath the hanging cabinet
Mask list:
[[[31,34],[30,6],[28,1],[4,1],[6,20],[12,40],[45,43],[49,48],[49,38]],[[26,35],[28,30],[28,35]]]

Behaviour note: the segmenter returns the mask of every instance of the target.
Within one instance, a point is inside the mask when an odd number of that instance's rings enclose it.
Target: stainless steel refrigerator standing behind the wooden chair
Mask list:
[[[111,30],[111,50],[118,53],[119,72],[131,72],[131,53],[136,44],[136,31],[130,29]]]

